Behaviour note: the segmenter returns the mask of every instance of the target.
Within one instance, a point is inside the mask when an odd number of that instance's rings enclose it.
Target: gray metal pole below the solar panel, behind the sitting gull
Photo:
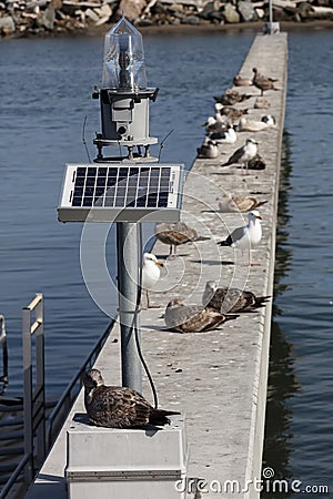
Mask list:
[[[135,223],[117,223],[117,253],[122,386],[141,393],[141,361],[134,330],[135,327],[139,330],[139,316],[135,317],[134,314],[139,281],[138,226]]]

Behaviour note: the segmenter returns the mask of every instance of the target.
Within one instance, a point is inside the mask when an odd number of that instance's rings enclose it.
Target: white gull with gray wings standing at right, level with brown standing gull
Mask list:
[[[243,227],[235,228],[224,241],[218,243],[219,246],[231,246],[243,252],[248,249],[249,252],[249,264],[250,261],[250,249],[258,246],[262,237],[262,228],[260,221],[262,220],[261,214],[256,210],[252,210],[248,213],[249,223]]]

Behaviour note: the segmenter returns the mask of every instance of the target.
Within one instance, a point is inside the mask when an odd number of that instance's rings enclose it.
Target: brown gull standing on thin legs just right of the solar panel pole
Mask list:
[[[176,246],[194,241],[208,241],[210,237],[200,236],[195,228],[189,227],[184,222],[175,224],[159,223],[154,230],[155,236],[161,243],[170,246],[170,256],[175,255]]]

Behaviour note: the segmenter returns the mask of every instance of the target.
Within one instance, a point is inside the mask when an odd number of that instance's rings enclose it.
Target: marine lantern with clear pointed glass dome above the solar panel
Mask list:
[[[105,34],[102,88],[92,93],[101,105],[97,162],[151,159],[149,147],[158,139],[149,136],[149,101],[158,91],[147,86],[142,35],[122,17]],[[104,157],[103,147],[112,145],[125,146],[127,155]]]

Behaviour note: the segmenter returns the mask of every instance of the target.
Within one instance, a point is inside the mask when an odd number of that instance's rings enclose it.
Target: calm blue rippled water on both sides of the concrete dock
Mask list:
[[[145,37],[149,83],[160,88],[150,105],[151,135],[161,140],[174,129],[163,161],[192,163],[212,95],[229,86],[252,40],[251,32]],[[289,35],[265,449],[265,465],[276,476],[309,485],[327,485],[332,476],[332,42],[333,31]],[[94,156],[99,104],[91,89],[101,81],[102,43],[80,38],[0,44],[0,313],[9,337],[8,395],[21,393],[21,308],[34,293],[46,297],[48,395],[64,389],[109,324],[81,275],[82,225],[60,224],[56,212],[64,163],[87,161],[84,116]],[[114,267],[113,233],[109,256]]]

